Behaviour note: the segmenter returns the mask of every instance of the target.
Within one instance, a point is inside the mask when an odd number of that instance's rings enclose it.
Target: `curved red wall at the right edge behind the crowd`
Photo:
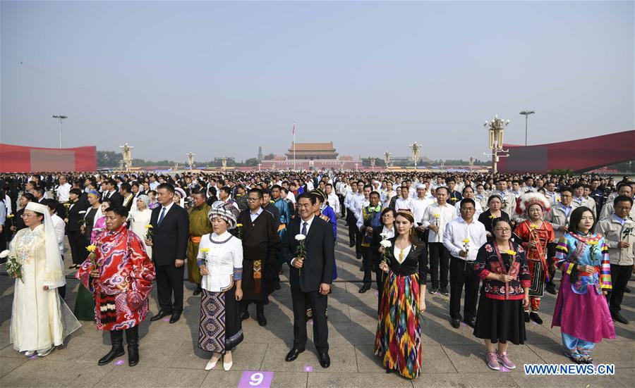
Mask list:
[[[509,157],[500,158],[498,170],[502,173],[546,173],[567,168],[584,172],[635,160],[635,130],[536,146],[505,144],[504,149],[509,149]]]

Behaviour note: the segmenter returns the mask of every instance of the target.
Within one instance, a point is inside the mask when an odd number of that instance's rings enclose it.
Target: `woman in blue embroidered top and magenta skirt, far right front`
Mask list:
[[[556,246],[562,270],[551,327],[560,326],[564,355],[575,363],[592,363],[591,351],[603,338],[615,338],[605,296],[611,290],[608,248],[593,234],[595,214],[586,206],[571,212],[569,232]]]

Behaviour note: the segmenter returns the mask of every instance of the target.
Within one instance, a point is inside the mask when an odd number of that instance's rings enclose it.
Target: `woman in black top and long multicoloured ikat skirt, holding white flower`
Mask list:
[[[394,220],[397,236],[390,246],[380,243],[380,269],[386,273],[375,354],[383,358],[386,373],[397,370],[409,379],[421,373],[421,321],[425,311],[425,246],[414,233],[411,213],[399,212]]]

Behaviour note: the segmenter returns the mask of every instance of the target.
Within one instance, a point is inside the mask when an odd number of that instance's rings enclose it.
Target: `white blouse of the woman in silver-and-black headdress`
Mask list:
[[[203,251],[209,249],[209,251]],[[200,287],[210,292],[225,292],[240,280],[243,269],[243,243],[229,232],[223,234],[205,234],[200,237],[198,245],[198,262],[204,261],[207,272],[200,282]],[[234,278],[234,270],[240,273]]]

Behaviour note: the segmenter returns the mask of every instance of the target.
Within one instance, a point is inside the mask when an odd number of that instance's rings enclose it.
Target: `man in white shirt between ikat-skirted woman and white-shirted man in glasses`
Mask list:
[[[428,229],[428,249],[430,249],[430,280],[432,287],[430,294],[441,292],[449,295],[447,290],[447,273],[449,270],[449,252],[443,246],[443,231],[445,225],[456,218],[454,206],[447,203],[449,190],[447,187],[437,187],[437,202],[425,208],[423,213],[423,227]],[[439,268],[441,276],[439,277]],[[441,289],[439,289],[439,286]]]

